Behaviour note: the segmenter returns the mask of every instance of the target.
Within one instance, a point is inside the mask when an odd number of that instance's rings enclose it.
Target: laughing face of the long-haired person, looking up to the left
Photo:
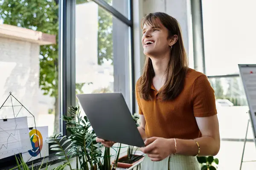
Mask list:
[[[170,52],[172,40],[168,38],[168,29],[160,21],[157,25],[154,27],[145,23],[143,26],[142,44],[146,56],[157,57]]]

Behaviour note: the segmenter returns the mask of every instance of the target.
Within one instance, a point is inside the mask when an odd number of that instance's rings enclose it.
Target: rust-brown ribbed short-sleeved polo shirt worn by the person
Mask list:
[[[138,82],[137,82],[138,83]],[[145,117],[146,136],[195,139],[201,137],[195,117],[217,114],[214,90],[205,74],[189,68],[183,91],[173,100],[161,101],[157,90],[151,85],[154,100],[140,97],[136,85],[139,114]]]

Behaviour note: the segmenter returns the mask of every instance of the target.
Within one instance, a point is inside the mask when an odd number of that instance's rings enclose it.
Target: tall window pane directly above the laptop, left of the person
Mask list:
[[[130,105],[128,35],[96,3],[76,5],[76,94],[122,92]]]

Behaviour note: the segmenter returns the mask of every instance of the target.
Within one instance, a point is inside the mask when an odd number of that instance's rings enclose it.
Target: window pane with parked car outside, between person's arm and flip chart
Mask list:
[[[221,138],[244,138],[249,107],[240,77],[210,78],[216,97]],[[249,138],[253,133],[248,133]]]

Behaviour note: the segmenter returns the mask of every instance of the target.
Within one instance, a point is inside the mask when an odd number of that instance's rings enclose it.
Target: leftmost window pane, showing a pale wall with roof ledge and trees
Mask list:
[[[8,30],[0,36],[0,105],[12,92],[35,122],[15,99],[5,104],[17,105],[15,115],[28,116],[29,127],[48,126],[49,136],[60,132],[58,4],[54,0],[2,0],[0,23],[2,33]],[[0,118],[4,116],[12,118],[12,108],[1,109]]]

